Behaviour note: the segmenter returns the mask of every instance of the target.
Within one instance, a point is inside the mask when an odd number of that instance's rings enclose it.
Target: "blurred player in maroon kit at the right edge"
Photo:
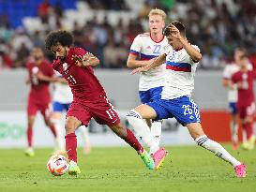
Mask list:
[[[240,58],[240,70],[233,74],[233,84],[231,86],[237,86],[237,111],[241,119],[242,127],[247,134],[247,141],[243,142],[242,147],[247,150],[252,150],[255,143],[252,124],[253,115],[255,113],[253,81],[256,79],[256,71],[248,69],[249,65],[246,55],[242,55]]]

